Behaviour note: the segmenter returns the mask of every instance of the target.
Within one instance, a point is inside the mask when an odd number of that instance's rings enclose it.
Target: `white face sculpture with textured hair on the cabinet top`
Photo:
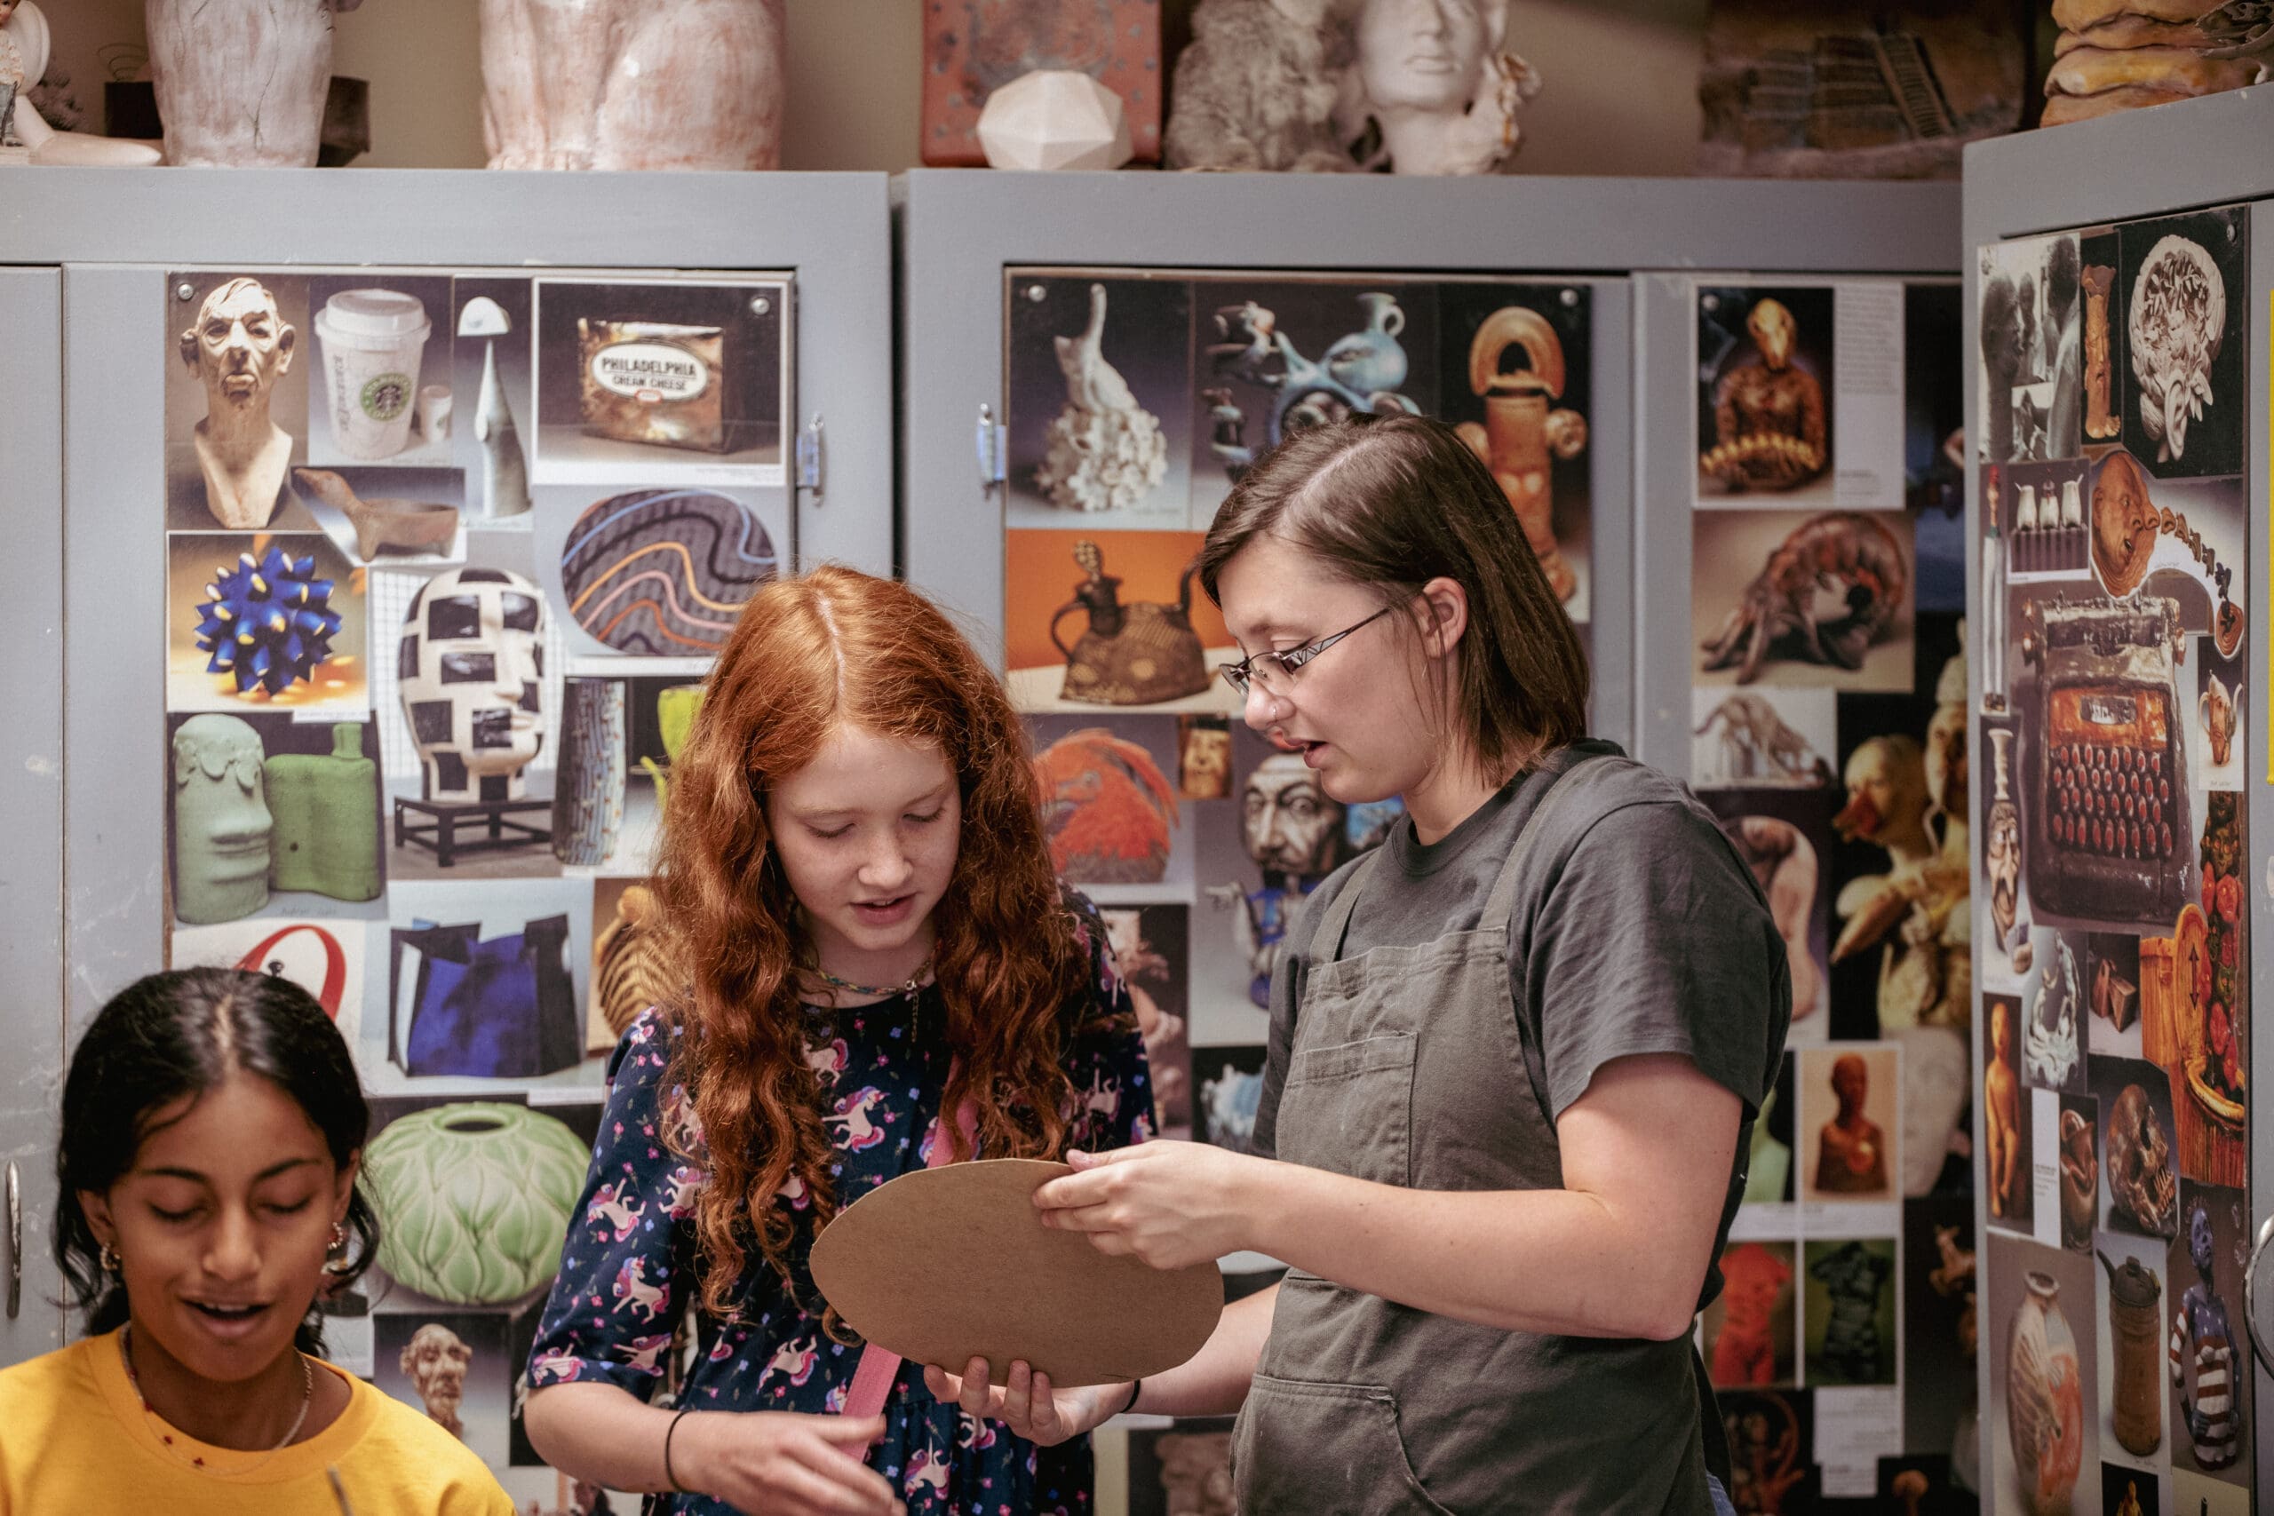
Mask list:
[[[1501,50],[1505,36],[1508,0],[1364,0],[1335,111],[1342,139],[1371,118],[1396,173],[1492,173],[1539,91],[1530,64]]]

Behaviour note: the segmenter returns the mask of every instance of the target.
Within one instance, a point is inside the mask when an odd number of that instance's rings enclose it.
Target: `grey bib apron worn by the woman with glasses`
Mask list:
[[[1342,959],[1367,857],[1312,941],[1278,1157],[1380,1184],[1562,1189],[1539,1050],[1510,996],[1510,911],[1553,816],[1551,766],[1474,932]],[[1553,827],[1546,832],[1553,836]],[[1621,1450],[1667,1450],[1637,1486]],[[1678,1466],[1674,1466],[1678,1461]],[[1289,1268],[1233,1436],[1242,1516],[1696,1511],[1706,1496],[1687,1339],[1539,1336],[1435,1316]]]

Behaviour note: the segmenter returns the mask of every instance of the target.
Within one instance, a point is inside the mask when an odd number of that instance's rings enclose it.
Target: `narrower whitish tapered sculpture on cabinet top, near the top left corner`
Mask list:
[[[166,161],[314,168],[332,11],[362,0],[143,0]]]

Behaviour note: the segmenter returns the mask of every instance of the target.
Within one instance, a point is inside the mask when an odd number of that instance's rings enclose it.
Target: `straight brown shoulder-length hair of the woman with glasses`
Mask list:
[[[1453,714],[1478,771],[1508,780],[1587,732],[1587,657],[1492,470],[1421,416],[1353,416],[1308,427],[1262,455],[1201,545],[1201,586],[1258,536],[1278,536],[1330,573],[1403,605],[1435,577],[1460,584]],[[1410,625],[1410,623],[1408,623]]]

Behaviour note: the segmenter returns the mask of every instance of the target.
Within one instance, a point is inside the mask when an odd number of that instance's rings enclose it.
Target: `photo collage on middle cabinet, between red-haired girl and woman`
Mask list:
[[[1057,868],[1137,1000],[1164,1136],[1248,1148],[1280,939],[1399,816],[1335,800],[1242,720],[1217,673],[1242,655],[1192,573],[1207,525],[1292,432],[1433,416],[1487,464],[1587,645],[1592,298],[1553,277],[1005,270],[1007,684]],[[1258,1255],[1226,1268],[1228,1289],[1278,1277]],[[1219,1423],[1132,1432],[1130,1509],[1228,1491],[1228,1446]]]

